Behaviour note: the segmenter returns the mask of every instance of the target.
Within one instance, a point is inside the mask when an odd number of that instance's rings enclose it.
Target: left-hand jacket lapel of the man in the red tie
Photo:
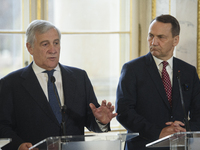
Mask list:
[[[160,77],[158,68],[157,68],[156,63],[155,63],[150,52],[146,55],[145,59],[146,59],[147,70],[150,74],[150,77],[151,77],[158,93],[160,94],[163,102],[170,109],[170,105],[169,105],[169,102],[168,102],[168,99],[167,99],[167,96],[166,96],[166,92],[164,90],[162,79]]]

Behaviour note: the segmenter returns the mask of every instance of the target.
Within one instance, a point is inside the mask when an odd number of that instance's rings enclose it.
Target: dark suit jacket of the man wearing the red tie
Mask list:
[[[185,109],[187,113],[190,111],[191,130],[200,130],[200,83],[195,67],[173,58],[173,106],[170,108],[157,66],[148,53],[123,66],[117,89],[117,120],[129,133],[140,134],[127,142],[128,150],[144,150],[147,143],[159,138],[166,122],[183,122],[178,70]]]

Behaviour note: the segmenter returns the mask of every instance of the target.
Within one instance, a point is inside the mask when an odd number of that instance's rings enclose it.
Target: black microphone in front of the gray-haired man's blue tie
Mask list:
[[[53,90],[54,90],[54,93],[55,93],[55,95],[56,95],[56,99],[57,99],[57,101],[58,101],[58,105],[59,105],[59,107],[60,107],[61,114],[62,114],[62,122],[61,122],[62,135],[65,136],[65,135],[66,135],[65,114],[66,114],[67,106],[66,106],[66,105],[61,106],[60,99],[59,99],[59,97],[58,97],[58,93],[56,92],[55,81],[56,81],[55,77],[54,77],[54,76],[51,76],[51,83],[53,83]]]

